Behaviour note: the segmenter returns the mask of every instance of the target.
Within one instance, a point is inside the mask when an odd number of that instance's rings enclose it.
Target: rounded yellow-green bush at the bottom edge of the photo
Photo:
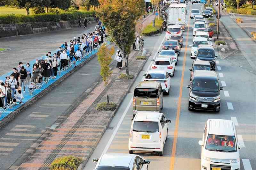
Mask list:
[[[82,163],[81,158],[74,156],[64,156],[55,159],[50,169],[51,170],[76,170],[78,166]]]

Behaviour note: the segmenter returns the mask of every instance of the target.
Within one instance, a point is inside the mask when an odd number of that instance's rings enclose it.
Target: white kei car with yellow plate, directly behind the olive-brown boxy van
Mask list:
[[[164,144],[168,137],[167,120],[163,113],[138,112],[132,119],[129,138],[129,153],[153,151],[164,154]]]

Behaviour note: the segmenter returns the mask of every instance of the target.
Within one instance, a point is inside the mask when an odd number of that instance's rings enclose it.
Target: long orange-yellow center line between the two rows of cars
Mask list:
[[[189,31],[189,22],[188,22],[188,31]],[[176,145],[177,145],[177,138],[178,138],[179,122],[180,122],[180,106],[181,106],[182,88],[183,88],[183,82],[184,82],[184,72],[185,72],[186,56],[187,56],[187,50],[188,50],[188,31],[187,31],[187,36],[186,36],[186,47],[185,47],[184,61],[183,61],[183,66],[182,66],[180,94],[179,94],[176,121],[175,121],[175,130],[174,130],[174,137],[173,137],[173,144],[172,144],[172,156],[171,156],[170,170],[174,170],[174,163],[175,163]]]

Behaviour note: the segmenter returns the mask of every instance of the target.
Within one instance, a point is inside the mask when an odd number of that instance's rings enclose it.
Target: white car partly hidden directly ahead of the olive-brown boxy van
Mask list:
[[[144,81],[160,82],[162,91],[169,95],[171,90],[171,77],[169,73],[164,70],[148,70],[143,76],[145,76]]]

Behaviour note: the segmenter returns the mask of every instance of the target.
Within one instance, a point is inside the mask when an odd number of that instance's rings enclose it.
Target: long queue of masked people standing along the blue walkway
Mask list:
[[[86,19],[84,26],[87,26],[87,22]],[[56,78],[57,72],[67,68],[70,64],[74,63],[76,67],[76,61],[80,61],[84,54],[106,42],[106,37],[106,29],[98,21],[94,32],[64,42],[57,53],[52,55],[51,52],[48,52],[42,59],[36,59],[33,65],[29,63],[23,65],[22,62],[19,62],[18,66],[13,68],[10,76],[6,76],[5,80],[0,80],[0,108],[18,100],[22,103],[26,88],[28,91],[33,91],[43,81],[48,81],[51,76]]]

